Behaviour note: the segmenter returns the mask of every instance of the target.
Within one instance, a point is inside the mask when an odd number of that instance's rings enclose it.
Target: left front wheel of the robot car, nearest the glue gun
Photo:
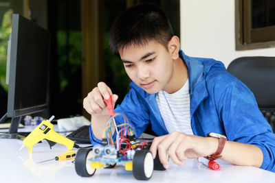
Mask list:
[[[94,157],[94,152],[92,149],[81,148],[76,154],[76,160],[74,162],[74,167],[76,173],[81,177],[91,177],[96,172],[96,169],[91,167],[91,162],[89,158]]]

